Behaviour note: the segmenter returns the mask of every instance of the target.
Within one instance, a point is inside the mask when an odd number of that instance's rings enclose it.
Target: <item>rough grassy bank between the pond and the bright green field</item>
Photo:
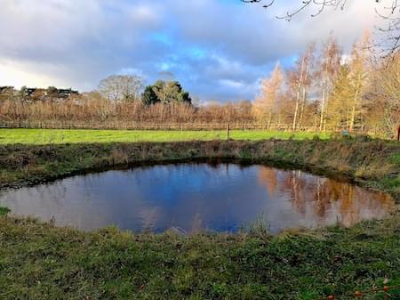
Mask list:
[[[115,166],[214,158],[346,176],[400,199],[400,144],[364,139],[0,145],[0,188]]]

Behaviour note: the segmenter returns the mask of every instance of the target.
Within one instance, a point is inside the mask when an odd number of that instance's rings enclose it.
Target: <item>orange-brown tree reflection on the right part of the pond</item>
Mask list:
[[[320,220],[336,216],[344,225],[362,219],[384,217],[394,207],[388,194],[367,191],[346,182],[337,182],[304,173],[260,166],[259,182],[271,198],[289,199],[303,217],[310,210]]]

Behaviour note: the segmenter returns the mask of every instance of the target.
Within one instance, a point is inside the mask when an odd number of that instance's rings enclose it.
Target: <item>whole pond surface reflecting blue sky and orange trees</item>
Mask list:
[[[383,218],[394,205],[385,193],[346,182],[235,164],[143,166],[0,193],[0,206],[14,215],[87,231],[235,232],[262,223],[276,233]]]

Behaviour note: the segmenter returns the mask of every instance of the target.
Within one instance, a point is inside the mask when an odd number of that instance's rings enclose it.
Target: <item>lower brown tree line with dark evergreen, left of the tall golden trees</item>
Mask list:
[[[33,90],[33,89],[29,89]],[[110,76],[100,81],[97,90],[71,93],[67,98],[50,93],[53,88],[22,93],[12,86],[0,87],[0,122],[63,126],[80,124],[100,127],[105,123],[147,124],[252,124],[251,101],[217,101],[198,105],[175,80],[157,80],[144,87],[139,76]],[[62,90],[64,91],[64,90]]]

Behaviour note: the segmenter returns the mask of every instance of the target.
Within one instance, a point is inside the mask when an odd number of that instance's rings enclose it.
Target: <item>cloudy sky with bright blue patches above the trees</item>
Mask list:
[[[84,92],[109,75],[149,85],[168,71],[200,101],[252,100],[276,61],[290,68],[330,33],[348,52],[380,22],[374,0],[276,19],[300,2],[265,10],[240,0],[0,0],[0,85]]]

